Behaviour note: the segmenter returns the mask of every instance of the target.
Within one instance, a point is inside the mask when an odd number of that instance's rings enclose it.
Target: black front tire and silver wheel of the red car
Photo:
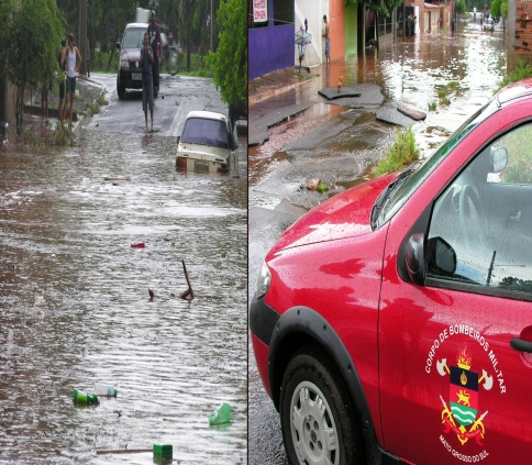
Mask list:
[[[322,353],[307,348],[288,363],[279,411],[290,464],[365,463],[352,402],[333,363]]]

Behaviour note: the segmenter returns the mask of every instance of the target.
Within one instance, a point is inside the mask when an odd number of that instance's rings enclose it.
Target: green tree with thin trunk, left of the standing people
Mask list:
[[[23,121],[24,93],[51,82],[63,74],[57,54],[65,36],[63,14],[55,0],[15,0],[0,2],[0,64],[16,87],[15,118],[20,132]]]

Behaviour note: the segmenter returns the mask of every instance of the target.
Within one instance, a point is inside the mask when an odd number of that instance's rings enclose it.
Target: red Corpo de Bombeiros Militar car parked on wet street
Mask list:
[[[267,254],[250,310],[291,464],[532,456],[532,79]]]

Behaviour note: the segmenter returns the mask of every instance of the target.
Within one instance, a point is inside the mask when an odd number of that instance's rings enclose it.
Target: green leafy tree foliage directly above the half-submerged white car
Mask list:
[[[245,111],[247,97],[247,2],[222,0],[218,11],[220,26],[218,51],[206,58],[213,73],[222,100],[229,104],[234,122]]]

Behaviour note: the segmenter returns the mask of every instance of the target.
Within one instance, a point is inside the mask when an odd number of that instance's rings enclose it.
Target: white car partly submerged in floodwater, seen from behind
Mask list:
[[[236,131],[228,117],[191,111],[177,137],[176,168],[187,171],[229,173],[236,166]]]

